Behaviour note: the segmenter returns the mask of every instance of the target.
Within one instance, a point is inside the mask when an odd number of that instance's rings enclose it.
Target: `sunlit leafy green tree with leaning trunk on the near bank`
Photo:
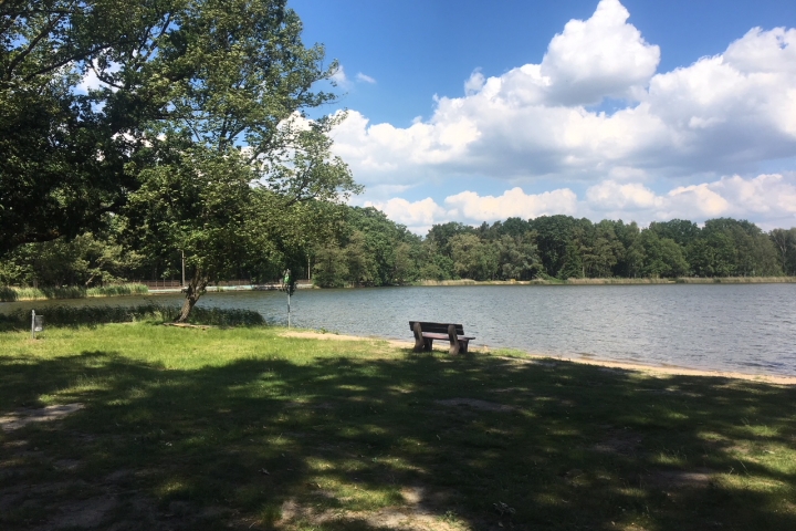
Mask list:
[[[317,214],[307,205],[359,190],[329,152],[343,116],[303,115],[333,100],[312,87],[336,64],[324,67],[323,49],[305,48],[301,30],[282,0],[192,0],[169,29],[159,61],[181,75],[169,85],[168,119],[148,124],[161,138],[156,160],[127,166],[140,181],[128,215],[144,247],[185,250],[190,281],[178,321],[234,263],[284,254],[277,242],[295,231],[283,222],[301,225],[308,247],[322,227],[301,222]]]

